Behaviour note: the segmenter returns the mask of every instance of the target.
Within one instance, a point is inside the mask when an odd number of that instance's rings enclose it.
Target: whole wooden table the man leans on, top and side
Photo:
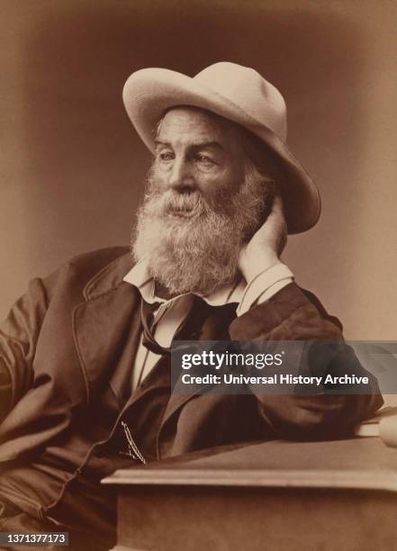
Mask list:
[[[104,483],[114,551],[397,549],[397,449],[379,438],[212,449]]]

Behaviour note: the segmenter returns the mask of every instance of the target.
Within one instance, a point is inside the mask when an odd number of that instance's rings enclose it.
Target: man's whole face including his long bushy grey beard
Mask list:
[[[133,252],[168,294],[211,294],[239,276],[239,251],[257,230],[266,178],[245,157],[242,133],[203,110],[159,122]]]

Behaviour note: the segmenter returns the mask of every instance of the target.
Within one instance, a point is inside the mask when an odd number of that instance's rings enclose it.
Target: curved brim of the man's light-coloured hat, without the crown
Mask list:
[[[177,105],[200,107],[247,128],[275,153],[273,157],[284,174],[280,185],[288,233],[310,230],[319,220],[320,193],[311,176],[275,132],[228,98],[194,78],[164,68],[145,68],[133,73],[125,83],[122,98],[132,124],[150,151],[155,149],[158,121]]]

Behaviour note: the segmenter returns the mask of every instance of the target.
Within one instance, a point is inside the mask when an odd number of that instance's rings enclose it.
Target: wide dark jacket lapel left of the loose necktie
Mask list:
[[[106,266],[86,285],[86,302],[73,312],[74,340],[88,400],[110,384],[119,406],[125,399],[122,376],[131,377],[140,339],[139,292],[122,281],[130,263],[128,255]]]

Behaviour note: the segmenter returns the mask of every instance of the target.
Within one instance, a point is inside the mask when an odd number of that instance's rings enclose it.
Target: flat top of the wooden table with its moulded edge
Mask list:
[[[123,485],[266,486],[397,492],[397,448],[380,438],[269,441],[203,450],[116,471]]]

